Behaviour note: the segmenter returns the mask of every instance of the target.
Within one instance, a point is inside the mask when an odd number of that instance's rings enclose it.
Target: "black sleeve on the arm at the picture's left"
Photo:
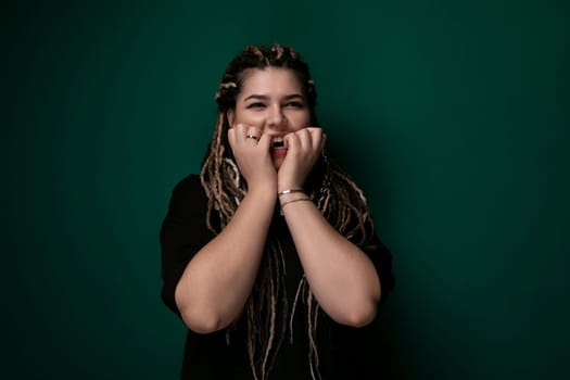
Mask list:
[[[206,207],[200,177],[190,175],[175,187],[162,224],[162,300],[177,315],[176,286],[190,259],[214,238],[206,227]]]

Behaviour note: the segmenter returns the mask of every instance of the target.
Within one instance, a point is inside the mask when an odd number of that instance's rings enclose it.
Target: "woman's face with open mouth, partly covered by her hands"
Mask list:
[[[230,126],[243,124],[269,134],[271,157],[278,169],[283,163],[287,147],[280,141],[287,134],[308,127],[311,110],[303,87],[289,68],[251,68],[243,75],[241,92],[236,98],[236,109],[228,111]]]

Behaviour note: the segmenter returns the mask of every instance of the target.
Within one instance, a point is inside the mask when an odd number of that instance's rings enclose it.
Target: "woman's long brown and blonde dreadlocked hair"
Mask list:
[[[208,200],[206,225],[215,235],[227,226],[248,191],[248,185],[229,148],[227,111],[236,106],[236,98],[246,71],[266,67],[288,68],[296,75],[309,105],[312,125],[318,125],[315,115],[317,93],[308,66],[292,48],[277,43],[273,47],[250,46],[230,62],[216,92],[218,117],[200,174]],[[340,233],[358,246],[371,244],[372,220],[363,191],[325,153],[315,164],[305,188],[312,201]],[[286,291],[284,275],[286,264],[280,241],[269,233],[259,271],[245,305],[246,346],[253,378],[267,379],[288,332],[289,340],[293,340],[293,316],[299,302],[302,302],[306,308],[311,375],[314,380],[320,379],[316,340],[320,307],[303,276],[290,309],[291,300]],[[282,313],[280,318],[278,313]],[[226,335],[228,344],[230,330],[227,330]]]

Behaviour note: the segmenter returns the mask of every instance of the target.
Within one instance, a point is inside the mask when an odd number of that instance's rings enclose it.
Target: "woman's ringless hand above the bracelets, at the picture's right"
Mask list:
[[[303,128],[284,137],[287,155],[277,173],[278,191],[303,187],[326,139],[322,129],[315,127]]]

